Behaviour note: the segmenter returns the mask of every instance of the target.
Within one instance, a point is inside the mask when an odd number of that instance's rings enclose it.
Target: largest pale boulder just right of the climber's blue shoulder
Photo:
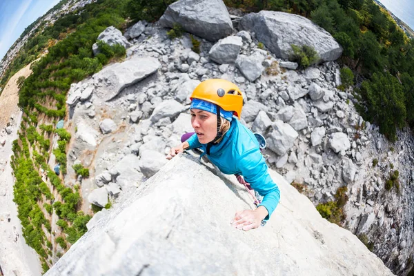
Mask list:
[[[268,137],[268,148],[277,155],[284,155],[295,144],[298,133],[289,124],[277,120],[272,125],[272,132]]]

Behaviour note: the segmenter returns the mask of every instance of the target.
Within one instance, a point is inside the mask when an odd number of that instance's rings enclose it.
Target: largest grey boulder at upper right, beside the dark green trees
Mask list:
[[[244,30],[255,32],[259,41],[277,57],[288,59],[291,44],[315,48],[321,61],[334,61],[342,55],[342,47],[331,34],[311,20],[296,14],[262,10],[246,14],[240,21]]]

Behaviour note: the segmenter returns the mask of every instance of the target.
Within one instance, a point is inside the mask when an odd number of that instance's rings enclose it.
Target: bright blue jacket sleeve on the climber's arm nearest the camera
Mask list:
[[[239,159],[239,170],[244,180],[259,193],[263,198],[262,204],[268,210],[268,220],[277,204],[279,204],[280,191],[277,184],[270,177],[268,166],[259,149],[249,150]]]

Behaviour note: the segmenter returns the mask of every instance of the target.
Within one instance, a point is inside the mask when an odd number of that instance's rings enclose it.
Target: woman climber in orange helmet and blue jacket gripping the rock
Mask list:
[[[190,99],[195,133],[183,135],[182,143],[171,148],[166,158],[201,148],[221,172],[242,175],[263,201],[255,210],[238,211],[230,224],[246,231],[264,225],[279,203],[280,192],[268,173],[255,135],[239,121],[242,92],[230,81],[208,79],[195,88]],[[239,181],[242,183],[243,179]]]

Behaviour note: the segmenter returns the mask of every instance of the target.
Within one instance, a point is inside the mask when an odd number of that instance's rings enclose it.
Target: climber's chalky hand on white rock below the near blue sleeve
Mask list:
[[[259,206],[255,210],[241,210],[236,213],[230,224],[237,229],[248,231],[259,227],[267,215],[268,210],[264,206]]]

